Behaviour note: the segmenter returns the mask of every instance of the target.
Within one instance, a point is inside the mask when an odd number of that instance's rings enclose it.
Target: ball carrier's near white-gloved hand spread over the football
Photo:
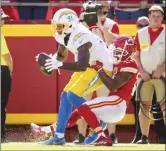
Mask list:
[[[59,67],[61,67],[63,65],[62,62],[58,61],[56,58],[52,57],[51,59],[47,59],[46,63],[45,63],[45,69],[50,72],[54,69],[58,69]]]

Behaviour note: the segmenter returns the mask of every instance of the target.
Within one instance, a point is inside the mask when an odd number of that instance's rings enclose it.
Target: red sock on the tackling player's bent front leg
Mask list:
[[[96,115],[91,111],[88,105],[84,104],[78,108],[79,114],[85,119],[85,121],[92,127],[97,134],[103,132],[100,123]]]

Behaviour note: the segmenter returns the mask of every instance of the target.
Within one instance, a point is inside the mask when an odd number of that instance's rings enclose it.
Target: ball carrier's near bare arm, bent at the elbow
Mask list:
[[[78,50],[77,62],[66,63],[64,62],[60,69],[70,70],[74,72],[85,71],[89,65],[91,42],[81,45]]]

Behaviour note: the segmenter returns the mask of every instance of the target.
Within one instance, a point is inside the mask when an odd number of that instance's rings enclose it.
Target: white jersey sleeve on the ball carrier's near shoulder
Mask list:
[[[80,46],[86,44],[90,41],[89,37],[91,37],[88,33],[80,32],[76,34],[73,38],[73,44],[76,49],[78,49]]]

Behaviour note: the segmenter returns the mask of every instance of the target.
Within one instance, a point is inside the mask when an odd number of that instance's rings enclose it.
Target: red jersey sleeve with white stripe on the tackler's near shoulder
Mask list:
[[[138,72],[138,67],[135,62],[126,62],[121,66],[120,72],[130,72],[136,74]]]

